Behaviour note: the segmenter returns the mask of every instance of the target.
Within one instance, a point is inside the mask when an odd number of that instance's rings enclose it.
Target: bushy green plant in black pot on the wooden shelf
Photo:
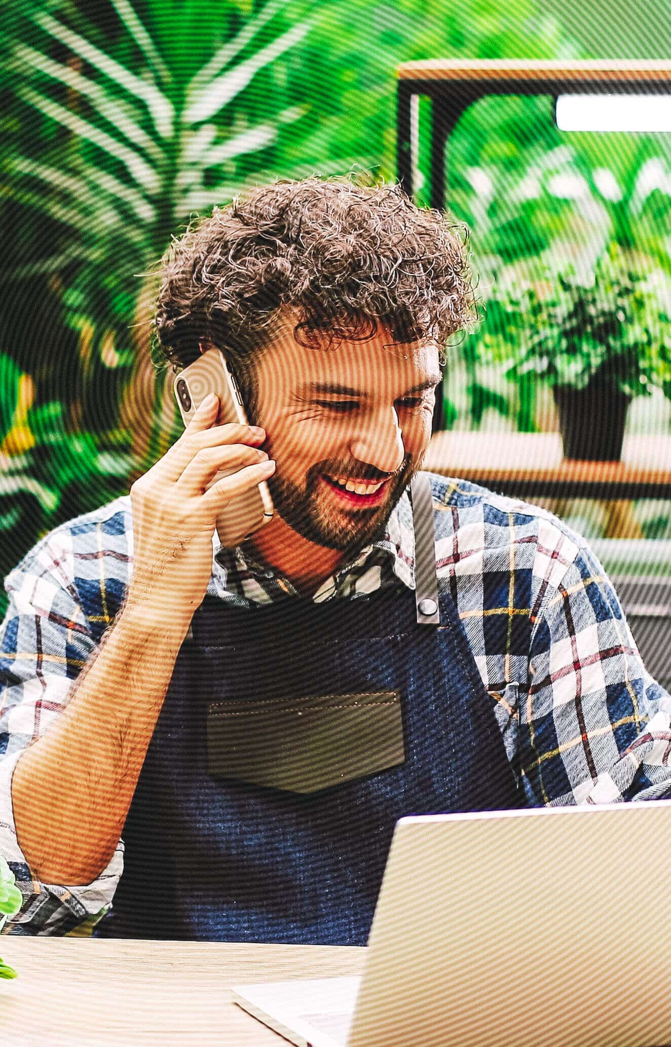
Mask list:
[[[642,268],[610,244],[588,285],[560,273],[496,298],[490,350],[512,357],[508,378],[552,386],[564,458],[618,461],[632,398],[671,396],[671,285]]]

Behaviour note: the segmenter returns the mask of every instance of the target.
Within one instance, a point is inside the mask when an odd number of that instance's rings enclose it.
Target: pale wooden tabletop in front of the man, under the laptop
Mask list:
[[[359,975],[364,949],[0,937],[2,1047],[273,1047],[230,986]]]

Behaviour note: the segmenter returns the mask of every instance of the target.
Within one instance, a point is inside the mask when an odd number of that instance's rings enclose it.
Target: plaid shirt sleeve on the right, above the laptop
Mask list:
[[[535,621],[534,621],[535,618]],[[519,759],[536,804],[671,796],[671,697],[647,672],[597,557],[577,550],[532,610]]]

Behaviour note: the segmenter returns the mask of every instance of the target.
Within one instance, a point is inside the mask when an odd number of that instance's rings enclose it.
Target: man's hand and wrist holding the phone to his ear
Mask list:
[[[218,398],[206,397],[179,440],[131,487],[134,556],[126,602],[157,621],[191,622],[211,575],[217,517],[275,468],[254,446],[264,429],[213,425],[218,409]],[[237,471],[213,484],[223,469]]]

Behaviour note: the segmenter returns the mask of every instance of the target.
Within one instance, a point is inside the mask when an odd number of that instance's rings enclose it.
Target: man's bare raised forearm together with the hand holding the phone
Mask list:
[[[264,430],[215,426],[217,409],[217,397],[204,401],[177,443],[133,484],[134,570],[126,604],[58,718],[14,768],[17,839],[45,884],[91,884],[109,864],[207,588],[217,516],[274,469],[254,447]],[[236,471],[206,490],[221,469]]]

